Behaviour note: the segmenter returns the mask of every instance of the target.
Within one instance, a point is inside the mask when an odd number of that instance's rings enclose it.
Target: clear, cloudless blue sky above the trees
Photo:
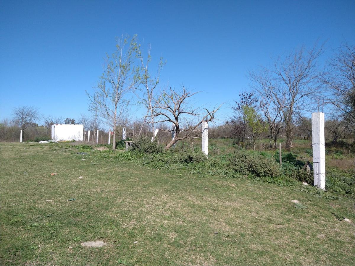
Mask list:
[[[163,84],[228,103],[248,88],[247,71],[301,45],[327,41],[325,56],[355,41],[355,1],[1,1],[0,120],[33,105],[77,118],[115,37],[138,34],[163,56]],[[140,111],[137,116],[140,116]]]

